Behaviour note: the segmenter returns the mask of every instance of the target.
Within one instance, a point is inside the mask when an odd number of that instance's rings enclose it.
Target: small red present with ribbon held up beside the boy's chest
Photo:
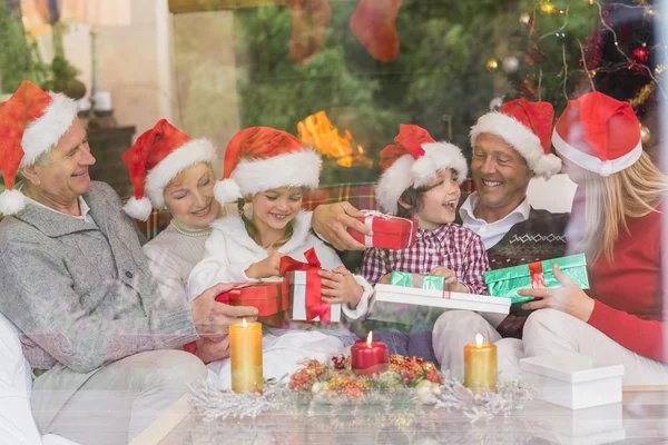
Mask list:
[[[416,219],[399,218],[375,210],[363,211],[365,216],[356,219],[364,222],[373,231],[373,235],[365,236],[351,228],[347,231],[365,247],[400,250],[415,244],[415,236],[418,235]]]

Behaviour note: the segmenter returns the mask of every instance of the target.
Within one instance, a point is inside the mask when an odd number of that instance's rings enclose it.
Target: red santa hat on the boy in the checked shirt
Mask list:
[[[407,188],[425,186],[441,170],[452,168],[459,184],[466,179],[466,159],[459,147],[436,142],[425,129],[402,123],[394,141],[381,151],[382,175],[376,186],[376,199],[386,211],[395,214]]]

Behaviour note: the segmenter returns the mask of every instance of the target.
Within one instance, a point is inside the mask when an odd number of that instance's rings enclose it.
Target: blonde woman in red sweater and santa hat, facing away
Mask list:
[[[622,364],[626,385],[668,383],[661,219],[666,178],[642,151],[631,107],[599,92],[569,102],[552,144],[579,186],[568,249],[587,255],[591,289],[559,268],[558,289],[530,289],[525,356],[576,352]]]

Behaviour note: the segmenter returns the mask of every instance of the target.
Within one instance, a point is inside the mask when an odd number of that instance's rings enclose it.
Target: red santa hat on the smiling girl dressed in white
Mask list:
[[[234,135],[214,194],[220,202],[278,187],[317,188],[322,160],[294,136],[269,127]]]

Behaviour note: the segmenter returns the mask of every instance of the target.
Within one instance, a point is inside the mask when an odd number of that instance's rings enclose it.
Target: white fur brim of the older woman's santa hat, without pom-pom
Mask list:
[[[215,162],[216,149],[207,139],[193,139],[155,166],[146,175],[145,192],[153,206],[161,209],[165,206],[163,190],[181,170],[197,162]]]

